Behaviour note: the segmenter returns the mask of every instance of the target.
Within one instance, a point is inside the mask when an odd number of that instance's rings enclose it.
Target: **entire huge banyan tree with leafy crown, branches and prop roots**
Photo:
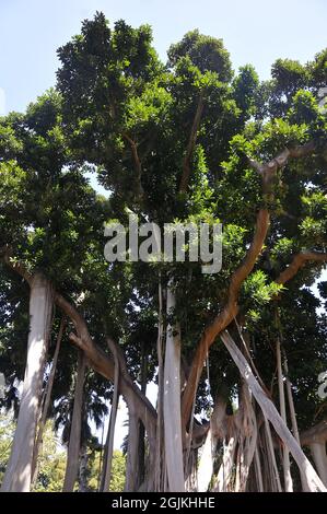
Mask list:
[[[94,437],[112,490],[121,399],[127,491],[326,491],[327,50],[260,82],[221,39],[163,63],[148,25],[96,13],[58,56],[56,87],[0,119],[2,491],[33,489],[49,419],[62,490],[87,490]],[[187,238],[184,261],[108,262],[131,214],[210,244],[221,223],[221,270]]]

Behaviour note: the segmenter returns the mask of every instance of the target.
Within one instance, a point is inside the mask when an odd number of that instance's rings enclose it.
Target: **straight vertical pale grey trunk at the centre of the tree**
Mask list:
[[[167,315],[175,307],[175,295],[167,288]],[[164,440],[168,488],[185,490],[182,417],[180,417],[180,332],[178,326],[167,326],[164,366]]]

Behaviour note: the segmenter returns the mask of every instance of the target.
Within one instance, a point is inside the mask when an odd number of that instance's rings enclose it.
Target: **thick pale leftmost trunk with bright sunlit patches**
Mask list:
[[[51,325],[52,290],[50,283],[40,273],[35,274],[30,283],[31,326],[27,362],[17,425],[2,482],[2,492],[30,491],[32,481],[39,398]]]

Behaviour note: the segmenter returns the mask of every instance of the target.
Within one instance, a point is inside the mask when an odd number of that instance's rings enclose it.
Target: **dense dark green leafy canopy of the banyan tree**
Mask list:
[[[15,264],[32,274],[42,271],[79,309],[105,352],[106,338],[113,338],[143,392],[157,381],[157,284],[165,288],[174,277],[176,307],[163,316],[180,325],[187,383],[203,332],[229,302],[231,278],[246,258],[258,215],[269,211],[267,236],[236,297],[237,323],[277,404],[276,340],[282,341],[300,430],[324,419],[317,388],[327,363],[326,281],[320,296],[312,289],[324,257],[304,259],[290,280],[279,279],[294,256],[327,252],[327,116],[320,97],[327,50],[307,63],[278,59],[271,79],[260,82],[252,65],[233,71],[222,39],[191,31],[161,62],[149,25],[110,26],[97,13],[58,56],[56,87],[26,113],[0,119],[3,405],[17,409],[28,332],[28,287]],[[276,173],[262,188],[260,165],[269,162]],[[90,173],[107,198],[91,187]],[[201,262],[188,260],[106,262],[104,225],[128,225],[130,212],[161,227],[221,222],[221,271],[205,274]],[[57,307],[52,316],[48,364],[62,313]],[[229,327],[237,338],[233,317]],[[65,428],[65,442],[77,367],[72,329],[68,319],[48,412],[57,429]],[[213,341],[209,367],[202,374],[199,369],[196,412],[202,418],[217,396],[235,402],[241,384],[219,334]],[[47,376],[48,370],[45,383]],[[113,386],[91,366],[82,432],[91,446],[92,420],[102,425],[112,396]]]

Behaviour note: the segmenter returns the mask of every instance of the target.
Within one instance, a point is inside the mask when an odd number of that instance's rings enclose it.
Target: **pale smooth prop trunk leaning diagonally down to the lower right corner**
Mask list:
[[[272,401],[267,397],[261,386],[258,384],[258,381],[254,376],[250,366],[248,365],[246,359],[238,350],[237,346],[231,338],[227,331],[224,331],[221,335],[222,341],[230,352],[233,361],[237,365],[241,375],[244,377],[245,382],[248,384],[255,399],[261,407],[261,410],[271,422],[276,432],[283,441],[283,443],[289,447],[291,454],[293,455],[294,460],[296,462],[300,469],[303,470],[307,486],[311,492],[327,492],[324,483],[317,476],[315,469],[313,468],[310,460],[306,458],[297,441],[293,437],[284,421],[280,417],[278,410],[276,409]]]

